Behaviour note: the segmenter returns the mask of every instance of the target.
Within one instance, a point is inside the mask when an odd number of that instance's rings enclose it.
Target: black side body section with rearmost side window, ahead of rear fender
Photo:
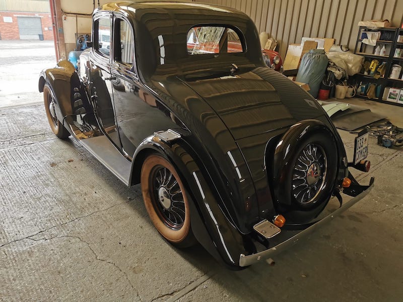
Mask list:
[[[131,158],[136,147],[155,131],[175,128],[170,112],[139,80],[135,62],[135,34],[124,16],[115,14],[113,33],[113,103],[124,154]]]

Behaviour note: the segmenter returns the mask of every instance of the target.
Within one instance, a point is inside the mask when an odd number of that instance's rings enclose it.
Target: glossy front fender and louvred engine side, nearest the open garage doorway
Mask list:
[[[39,77],[39,92],[43,92],[46,83],[54,96],[57,119],[62,121],[67,129],[71,127],[66,117],[93,113],[86,91],[71,62],[61,60],[54,68],[44,69]]]

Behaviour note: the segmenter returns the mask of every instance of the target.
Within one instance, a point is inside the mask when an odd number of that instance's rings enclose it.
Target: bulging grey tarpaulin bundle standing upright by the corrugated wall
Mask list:
[[[314,98],[318,95],[327,62],[328,59],[323,49],[311,49],[302,57],[296,81],[308,84],[310,88],[308,92]]]

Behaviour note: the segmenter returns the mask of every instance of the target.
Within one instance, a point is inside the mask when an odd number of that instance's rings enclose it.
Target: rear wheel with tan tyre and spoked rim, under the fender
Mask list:
[[[188,196],[172,164],[157,154],[147,157],[141,171],[141,187],[144,204],[157,231],[177,247],[194,245]]]

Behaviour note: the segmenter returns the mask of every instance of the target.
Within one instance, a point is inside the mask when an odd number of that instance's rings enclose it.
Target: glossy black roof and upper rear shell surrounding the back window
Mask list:
[[[144,78],[147,78],[146,74],[157,73],[160,69],[164,69],[161,71],[164,74],[166,69],[177,74],[178,68],[185,72],[196,67],[201,68],[202,65],[210,68],[215,64],[221,66],[262,62],[258,33],[253,21],[235,9],[183,0],[137,0],[107,3],[94,11],[94,17],[105,12],[118,13],[132,24],[137,66]],[[223,25],[235,30],[243,39],[246,51],[221,54],[211,60],[205,56],[189,56],[186,47],[187,33],[192,27],[201,25]],[[161,48],[164,53],[162,64],[159,63]],[[230,62],[226,62],[225,57]]]

